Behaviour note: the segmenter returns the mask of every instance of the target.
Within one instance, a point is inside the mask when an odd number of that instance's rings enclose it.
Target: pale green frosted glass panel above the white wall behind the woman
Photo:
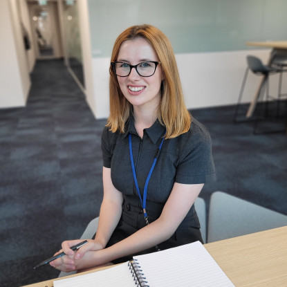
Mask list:
[[[163,31],[174,52],[250,49],[246,41],[286,40],[286,0],[89,0],[93,57],[111,57],[131,25]]]

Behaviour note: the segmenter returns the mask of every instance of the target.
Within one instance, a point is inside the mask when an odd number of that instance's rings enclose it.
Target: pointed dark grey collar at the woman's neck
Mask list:
[[[134,118],[133,115],[131,114],[129,116],[129,121],[126,124],[126,131],[124,132],[124,138],[129,135],[129,133],[134,133],[138,135],[138,132],[136,131],[136,127],[134,124]],[[147,133],[147,136],[151,139],[151,141],[156,144],[158,140],[163,136],[165,133],[165,126],[160,124],[159,120],[156,120],[154,124],[149,127],[148,129],[145,129],[145,132]]]

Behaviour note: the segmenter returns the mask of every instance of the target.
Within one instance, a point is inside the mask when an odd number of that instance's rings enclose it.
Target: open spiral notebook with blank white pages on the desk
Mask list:
[[[199,242],[139,255],[117,266],[54,281],[54,287],[234,287]]]

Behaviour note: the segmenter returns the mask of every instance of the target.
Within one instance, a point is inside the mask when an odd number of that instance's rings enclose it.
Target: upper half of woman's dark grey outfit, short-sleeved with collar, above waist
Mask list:
[[[154,156],[165,134],[165,127],[157,120],[149,129],[144,130],[141,139],[131,116],[124,134],[112,133],[107,127],[102,133],[104,167],[111,168],[113,185],[127,196],[138,196],[129,156],[129,133],[131,133],[138,186],[142,193]],[[214,178],[210,134],[203,124],[193,119],[187,133],[164,140],[156,167],[149,180],[147,201],[165,203],[175,182],[206,183]]]

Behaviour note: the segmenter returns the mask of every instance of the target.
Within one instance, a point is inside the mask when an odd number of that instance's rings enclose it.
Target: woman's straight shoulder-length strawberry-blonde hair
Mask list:
[[[127,28],[115,40],[111,62],[117,61],[120,46],[124,41],[137,37],[147,40],[158,55],[164,76],[161,86],[162,97],[158,108],[158,120],[167,129],[165,138],[175,138],[189,130],[192,117],[185,107],[174,51],[165,34],[158,28],[146,24]],[[109,73],[110,115],[107,127],[112,132],[119,130],[124,133],[125,123],[131,111],[131,104],[124,98],[117,76],[111,66]]]

